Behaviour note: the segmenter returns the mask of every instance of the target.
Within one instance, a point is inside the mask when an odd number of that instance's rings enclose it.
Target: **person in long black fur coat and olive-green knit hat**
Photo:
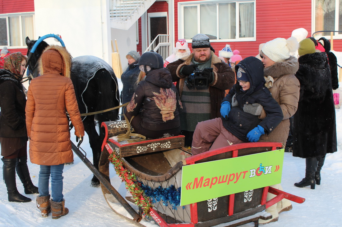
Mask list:
[[[294,114],[293,156],[306,159],[305,178],[297,187],[320,184],[325,155],[337,151],[336,116],[331,73],[325,52],[316,52],[311,39],[299,43],[300,98]]]

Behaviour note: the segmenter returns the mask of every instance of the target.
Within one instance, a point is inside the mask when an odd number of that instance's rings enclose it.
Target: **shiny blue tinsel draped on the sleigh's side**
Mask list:
[[[177,210],[177,207],[179,207],[181,203],[181,187],[176,188],[174,185],[171,185],[167,188],[163,188],[159,185],[157,188],[153,189],[148,185],[144,185],[142,182],[140,182],[140,184],[145,195],[150,197],[153,203],[155,203],[155,201],[163,200],[163,205],[168,206],[168,203],[170,203],[173,210]]]

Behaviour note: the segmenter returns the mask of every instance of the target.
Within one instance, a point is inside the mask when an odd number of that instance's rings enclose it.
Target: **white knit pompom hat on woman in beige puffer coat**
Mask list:
[[[290,58],[290,52],[298,50],[299,44],[295,37],[290,37],[287,40],[284,38],[276,38],[268,41],[262,47],[261,51],[269,59],[274,62],[284,61]]]

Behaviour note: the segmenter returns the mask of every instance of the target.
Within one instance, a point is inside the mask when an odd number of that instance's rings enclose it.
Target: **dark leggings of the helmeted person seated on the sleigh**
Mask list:
[[[126,117],[130,120],[132,118],[132,115],[126,112]],[[181,132],[181,126],[177,128],[168,129],[168,130],[157,130],[157,131],[148,130],[141,126],[141,122],[142,122],[141,113],[139,113],[137,116],[134,116],[134,118],[132,119],[131,126],[134,128],[134,132],[139,133],[143,136],[146,136],[147,139],[159,139],[159,138],[170,137],[170,136],[178,136]]]

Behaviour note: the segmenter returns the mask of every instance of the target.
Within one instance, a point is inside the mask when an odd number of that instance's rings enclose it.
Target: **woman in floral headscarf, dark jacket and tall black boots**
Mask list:
[[[4,58],[0,69],[0,144],[3,162],[3,179],[7,187],[8,201],[29,202],[21,195],[15,182],[15,170],[24,185],[25,194],[38,193],[32,184],[27,167],[27,133],[25,127],[26,98],[21,84],[26,57],[21,52]]]

